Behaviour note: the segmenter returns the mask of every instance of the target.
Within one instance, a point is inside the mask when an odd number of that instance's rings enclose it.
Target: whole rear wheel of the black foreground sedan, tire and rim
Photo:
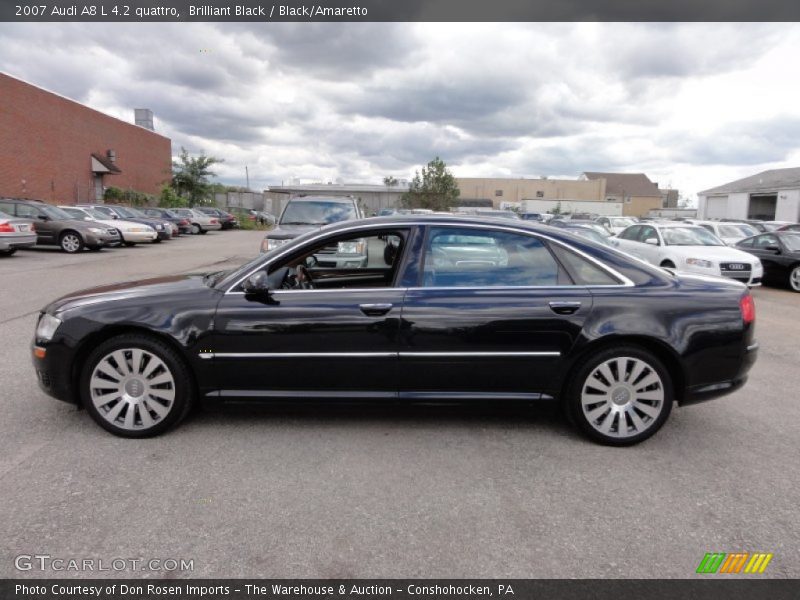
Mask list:
[[[607,446],[630,446],[655,434],[669,417],[673,399],[667,369],[635,346],[589,356],[570,377],[565,395],[570,421]]]

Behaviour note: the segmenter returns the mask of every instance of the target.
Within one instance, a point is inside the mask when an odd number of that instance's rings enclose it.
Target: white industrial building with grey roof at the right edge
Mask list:
[[[698,195],[702,219],[800,221],[800,168],[772,169]]]

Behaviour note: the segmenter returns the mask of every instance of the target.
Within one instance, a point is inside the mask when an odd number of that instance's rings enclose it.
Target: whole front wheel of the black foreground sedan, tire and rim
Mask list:
[[[83,406],[95,422],[127,438],[152,437],[176,426],[189,413],[193,390],[180,355],[140,334],[100,344],[86,360],[80,381]]]

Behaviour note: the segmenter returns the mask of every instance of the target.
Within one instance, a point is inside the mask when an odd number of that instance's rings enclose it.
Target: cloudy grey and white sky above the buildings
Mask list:
[[[800,164],[794,24],[0,24],[0,70],[224,183],[642,171],[688,197]]]

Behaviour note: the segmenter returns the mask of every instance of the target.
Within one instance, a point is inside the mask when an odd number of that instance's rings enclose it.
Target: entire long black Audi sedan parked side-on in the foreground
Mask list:
[[[353,240],[366,264],[319,265]],[[741,387],[754,319],[737,281],[525,221],[407,215],[310,231],[232,271],[65,296],[33,361],[47,393],[126,437],[200,401],[516,400],[561,402],[589,438],[626,445],[674,402]]]

